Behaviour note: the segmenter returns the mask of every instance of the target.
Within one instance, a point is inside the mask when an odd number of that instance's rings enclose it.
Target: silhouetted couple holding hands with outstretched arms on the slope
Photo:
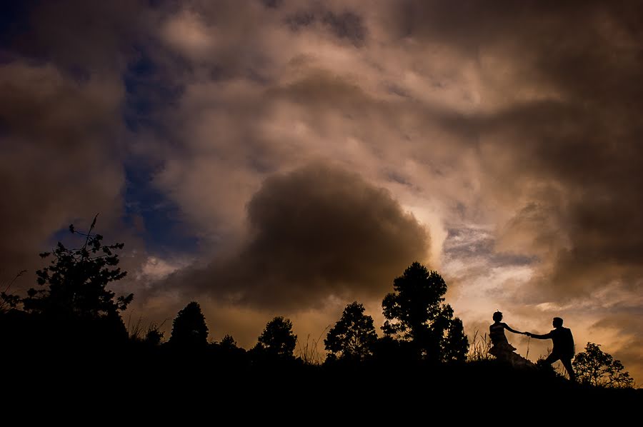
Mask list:
[[[496,311],[494,313],[494,323],[492,326],[489,326],[489,338],[491,338],[493,344],[493,347],[489,349],[489,353],[496,356],[499,360],[511,363],[512,366],[531,367],[534,366],[534,363],[514,353],[516,348],[509,344],[507,336],[504,335],[504,330],[507,329],[507,331],[520,333],[537,339],[551,338],[552,341],[554,341],[554,348],[552,349],[552,353],[545,359],[545,363],[552,365],[556,361],[561,361],[567,370],[569,379],[575,381],[576,376],[574,374],[574,368],[572,368],[572,357],[574,357],[574,337],[572,336],[572,331],[570,331],[569,328],[563,328],[562,318],[559,317],[554,317],[552,325],[554,329],[544,335],[531,332],[519,332],[510,328],[507,323],[503,323],[502,313]]]

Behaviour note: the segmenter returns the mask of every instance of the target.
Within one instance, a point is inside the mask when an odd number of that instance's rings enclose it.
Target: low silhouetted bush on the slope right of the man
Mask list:
[[[625,371],[623,363],[601,350],[599,344],[587,343],[585,351],[578,353],[572,362],[577,381],[592,386],[629,388],[634,378]]]

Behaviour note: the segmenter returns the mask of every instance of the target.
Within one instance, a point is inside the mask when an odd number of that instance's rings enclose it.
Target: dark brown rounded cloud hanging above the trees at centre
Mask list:
[[[249,201],[249,241],[174,289],[260,308],[304,310],[326,298],[383,296],[426,258],[429,237],[388,191],[359,175],[312,164],[266,179]]]

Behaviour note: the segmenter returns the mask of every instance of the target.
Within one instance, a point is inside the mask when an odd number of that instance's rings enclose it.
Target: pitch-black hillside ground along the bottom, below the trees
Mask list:
[[[2,366],[0,397],[10,418],[46,416],[54,422],[71,416],[84,425],[113,418],[129,424],[141,417],[146,423],[187,423],[176,421],[179,413],[226,425],[257,420],[487,425],[500,417],[508,424],[621,426],[630,418],[639,423],[643,409],[641,389],[582,386],[551,371],[518,371],[494,361],[309,366],[299,361],[239,363],[190,353],[50,349],[4,359]]]

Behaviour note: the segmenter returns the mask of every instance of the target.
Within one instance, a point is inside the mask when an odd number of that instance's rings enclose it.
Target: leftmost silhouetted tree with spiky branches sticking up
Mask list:
[[[76,231],[73,224],[69,226],[71,233],[84,236],[81,248],[69,249],[59,242],[53,252],[40,254],[42,258],[53,256],[49,266],[36,271],[42,288],[30,288],[27,297],[21,300],[24,311],[46,318],[49,327],[59,327],[57,334],[73,334],[81,326],[83,333],[100,330],[114,337],[126,337],[120,311],[125,310],[134,294],[116,298],[107,288],[109,283],[126,275],[126,271],[116,267],[119,256],[115,253],[124,243],[104,245],[103,236],[91,233],[97,217],[88,233]],[[64,328],[60,328],[61,321],[66,322]]]

